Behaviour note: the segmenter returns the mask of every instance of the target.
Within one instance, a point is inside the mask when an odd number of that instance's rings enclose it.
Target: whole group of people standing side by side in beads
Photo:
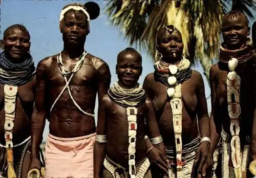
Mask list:
[[[63,7],[63,50],[37,67],[28,30],[5,30],[0,176],[212,177],[218,144],[217,177],[256,175],[256,56],[246,16],[231,11],[223,18],[219,62],[210,69],[209,117],[202,75],[191,70],[182,34],[173,25],[159,30],[155,71],[143,85],[142,56],[126,48],[117,55],[118,81],[110,87],[109,65],[84,50],[90,20],[98,15],[94,2]],[[43,155],[46,119],[50,133]]]

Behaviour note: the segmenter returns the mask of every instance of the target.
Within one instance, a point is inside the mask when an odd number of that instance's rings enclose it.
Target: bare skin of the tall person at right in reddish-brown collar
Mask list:
[[[223,20],[222,34],[224,43],[227,49],[236,50],[244,46],[246,39],[250,33],[247,19],[244,15],[234,18],[225,18]],[[243,143],[245,136],[251,135],[253,119],[253,109],[255,96],[255,68],[252,63],[255,59],[243,64],[243,71],[236,71],[240,78],[240,142]],[[253,71],[254,70],[254,71]],[[220,140],[221,128],[230,133],[230,118],[227,110],[227,74],[228,68],[225,69],[220,65],[220,62],[211,66],[210,69],[210,87],[211,87],[211,153]],[[254,115],[255,118],[256,115]],[[253,148],[252,148],[253,149]]]

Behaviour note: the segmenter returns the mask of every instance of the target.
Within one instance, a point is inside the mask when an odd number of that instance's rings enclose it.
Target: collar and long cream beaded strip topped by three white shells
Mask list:
[[[173,112],[173,126],[176,145],[177,177],[182,178],[182,94],[181,83],[191,77],[190,62],[182,58],[179,63],[169,64],[160,59],[154,65],[155,73],[163,84],[167,84],[167,95]],[[159,70],[160,69],[160,70]],[[168,72],[167,72],[168,70]],[[178,77],[178,78],[177,78]],[[172,168],[169,167],[169,171]],[[170,176],[170,174],[169,174]]]

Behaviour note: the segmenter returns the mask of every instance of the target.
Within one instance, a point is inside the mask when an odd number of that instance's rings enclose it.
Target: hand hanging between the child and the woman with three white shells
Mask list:
[[[165,174],[168,174],[167,158],[159,149],[153,148],[148,152],[151,163],[156,164]]]

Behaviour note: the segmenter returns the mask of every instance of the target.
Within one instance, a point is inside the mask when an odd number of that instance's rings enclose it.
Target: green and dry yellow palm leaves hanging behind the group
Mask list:
[[[182,34],[184,55],[193,62],[199,59],[209,79],[209,69],[219,55],[220,28],[224,14],[242,10],[252,18],[253,0],[112,0],[106,13],[113,26],[120,28],[130,44],[139,45],[156,60],[156,36],[166,25],[174,25]]]

